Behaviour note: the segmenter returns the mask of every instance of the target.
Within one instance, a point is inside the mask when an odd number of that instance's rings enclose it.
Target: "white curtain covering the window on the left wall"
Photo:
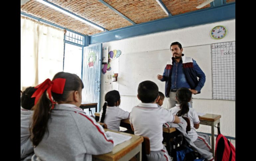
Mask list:
[[[63,71],[64,30],[21,16],[21,90]]]

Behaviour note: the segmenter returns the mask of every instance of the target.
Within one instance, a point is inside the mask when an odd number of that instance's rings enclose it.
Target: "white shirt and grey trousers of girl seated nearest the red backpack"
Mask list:
[[[176,104],[175,107],[171,108],[169,111],[176,115],[178,111],[180,111],[180,104]],[[194,124],[199,123],[199,118],[198,115],[193,108],[189,108],[188,115],[185,114],[184,117],[187,117],[190,119],[190,126],[191,130],[188,131],[188,135],[191,138],[191,141],[197,146],[198,148],[205,149],[207,151],[211,150],[211,146],[209,144],[209,136],[208,135],[198,135],[197,132],[195,131]]]

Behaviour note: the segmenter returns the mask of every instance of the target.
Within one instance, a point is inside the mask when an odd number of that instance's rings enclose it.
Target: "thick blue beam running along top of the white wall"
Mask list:
[[[235,2],[91,35],[89,44],[235,19]]]

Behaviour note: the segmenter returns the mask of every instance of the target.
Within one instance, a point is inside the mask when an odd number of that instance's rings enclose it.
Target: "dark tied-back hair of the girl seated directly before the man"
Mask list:
[[[192,92],[188,88],[180,88],[176,92],[177,102],[180,104],[181,110],[177,112],[177,116],[183,116],[189,112],[189,102],[192,97]]]

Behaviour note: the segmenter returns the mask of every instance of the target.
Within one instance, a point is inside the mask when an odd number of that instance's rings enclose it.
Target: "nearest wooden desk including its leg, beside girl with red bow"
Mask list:
[[[92,155],[92,160],[100,159],[104,161],[127,161],[132,157],[136,157],[138,161],[141,161],[142,151],[141,151],[141,143],[143,142],[142,136],[137,136],[129,133],[113,131],[109,129],[104,129],[105,131],[112,131],[121,133],[123,135],[132,136],[131,139],[114,146],[113,150],[107,154],[101,155]]]

